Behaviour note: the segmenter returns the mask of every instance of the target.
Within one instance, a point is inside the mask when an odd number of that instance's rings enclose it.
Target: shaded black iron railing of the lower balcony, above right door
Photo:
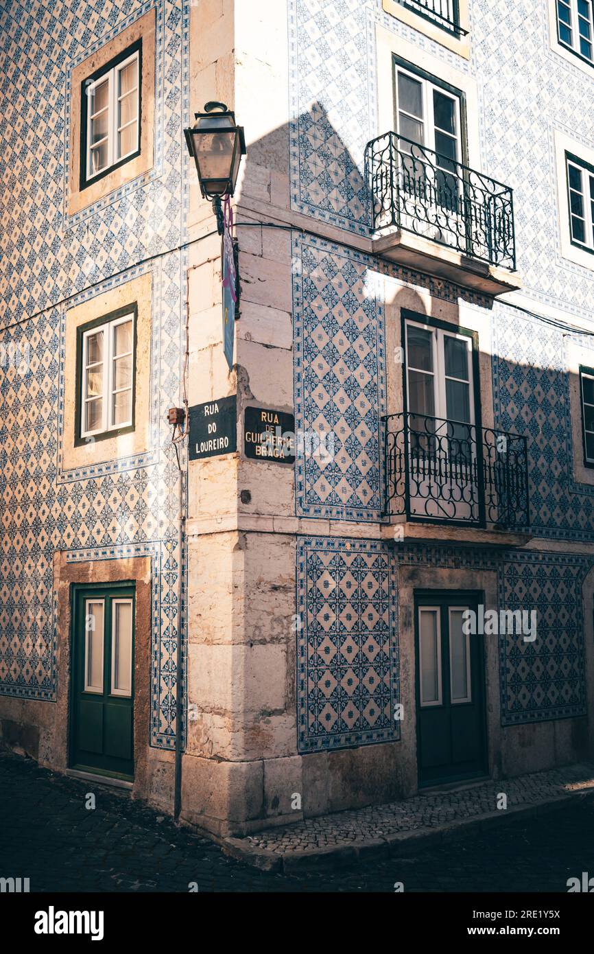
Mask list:
[[[387,514],[528,528],[525,437],[422,414],[392,414],[383,422]]]

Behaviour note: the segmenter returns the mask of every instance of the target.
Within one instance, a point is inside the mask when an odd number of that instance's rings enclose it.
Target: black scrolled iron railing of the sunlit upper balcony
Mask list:
[[[515,270],[508,186],[397,133],[367,143],[365,171],[374,231],[396,226]]]

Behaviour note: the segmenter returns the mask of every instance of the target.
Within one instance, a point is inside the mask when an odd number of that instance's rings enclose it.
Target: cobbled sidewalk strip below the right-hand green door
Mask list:
[[[594,787],[594,763],[584,762],[551,772],[536,772],[505,781],[486,781],[469,788],[406,798],[356,811],[320,815],[297,824],[270,828],[250,837],[251,846],[287,855],[331,845],[356,845],[365,840],[418,829],[435,828],[498,811],[500,793],[507,808],[536,805],[570,792]]]

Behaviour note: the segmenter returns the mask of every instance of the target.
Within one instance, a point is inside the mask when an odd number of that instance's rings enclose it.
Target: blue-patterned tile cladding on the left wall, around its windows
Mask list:
[[[149,10],[156,30],[154,170],[69,217],[72,68]],[[72,560],[149,555],[151,742],[166,748],[174,745],[180,553],[178,471],[165,415],[178,404],[183,347],[185,253],[176,249],[187,206],[188,18],[189,4],[164,0],[100,8],[10,0],[0,11],[3,342],[30,349],[32,359],[25,373],[11,366],[2,373],[1,691],[56,697],[56,550]],[[65,311],[148,269],[154,297],[150,449],[65,470]]]

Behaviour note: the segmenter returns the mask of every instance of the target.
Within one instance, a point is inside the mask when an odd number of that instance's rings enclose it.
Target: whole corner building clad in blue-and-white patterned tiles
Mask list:
[[[177,737],[217,835],[592,757],[591,18],[4,0],[6,744],[173,811]],[[231,369],[209,100],[247,141]],[[191,429],[236,395],[236,451],[180,472],[184,386]]]

